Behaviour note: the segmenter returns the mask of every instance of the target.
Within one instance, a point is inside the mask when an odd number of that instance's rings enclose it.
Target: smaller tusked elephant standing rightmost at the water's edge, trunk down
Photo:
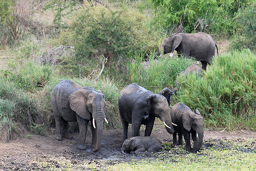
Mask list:
[[[204,119],[196,109],[193,112],[189,107],[182,103],[175,104],[170,109],[172,122],[178,126],[173,130],[165,127],[166,130],[173,136],[173,145],[183,145],[182,135],[184,136],[186,143],[186,150],[197,152],[202,146],[204,136]],[[177,143],[177,133],[179,135]],[[191,134],[191,136],[190,136]],[[197,135],[198,134],[198,137]],[[194,141],[194,147],[191,149],[190,139]]]

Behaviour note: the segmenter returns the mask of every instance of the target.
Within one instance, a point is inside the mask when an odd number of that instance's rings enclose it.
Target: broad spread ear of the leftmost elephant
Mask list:
[[[91,93],[90,90],[80,89],[72,93],[69,98],[69,106],[83,119],[90,120],[91,115],[86,106],[88,95]]]

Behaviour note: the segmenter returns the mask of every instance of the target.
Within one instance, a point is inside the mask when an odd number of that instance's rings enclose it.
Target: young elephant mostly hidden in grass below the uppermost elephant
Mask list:
[[[182,75],[187,77],[188,74],[192,74],[192,73],[196,73],[200,75],[202,73],[202,69],[198,65],[192,64],[191,66],[187,67],[184,71],[182,71],[176,78],[176,88],[172,90],[174,94],[176,94],[176,92],[180,89],[180,86],[181,86],[181,83],[178,81],[178,78],[181,77]]]

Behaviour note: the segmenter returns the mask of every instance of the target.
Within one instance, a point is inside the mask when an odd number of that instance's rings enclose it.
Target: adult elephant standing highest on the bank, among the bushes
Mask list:
[[[170,37],[164,38],[161,48],[164,48],[164,54],[171,53],[174,50],[184,57],[195,57],[197,61],[201,61],[202,69],[206,70],[206,65],[211,64],[213,56],[215,56],[216,42],[207,33],[174,33]],[[161,51],[161,49],[160,49]],[[156,55],[160,55],[157,50]],[[218,54],[219,56],[219,54]]]

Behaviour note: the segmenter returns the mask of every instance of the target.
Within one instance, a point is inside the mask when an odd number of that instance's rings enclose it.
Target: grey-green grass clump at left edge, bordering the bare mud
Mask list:
[[[0,140],[9,142],[14,133],[18,133],[20,125],[31,131],[34,123],[44,123],[44,118],[38,113],[33,100],[28,95],[20,92],[14,84],[0,78]]]

